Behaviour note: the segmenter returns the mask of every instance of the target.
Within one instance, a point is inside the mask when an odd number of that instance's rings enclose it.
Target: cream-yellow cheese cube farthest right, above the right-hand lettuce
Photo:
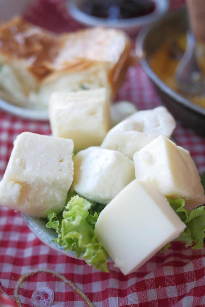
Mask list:
[[[190,153],[160,136],[134,154],[136,179],[149,176],[162,195],[186,200],[185,208],[203,205],[204,190]]]

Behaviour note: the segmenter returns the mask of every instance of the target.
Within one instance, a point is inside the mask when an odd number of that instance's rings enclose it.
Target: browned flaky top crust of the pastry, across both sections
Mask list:
[[[0,54],[24,60],[38,82],[103,63],[116,92],[129,65],[130,39],[119,30],[92,28],[56,35],[17,17],[0,27]]]

